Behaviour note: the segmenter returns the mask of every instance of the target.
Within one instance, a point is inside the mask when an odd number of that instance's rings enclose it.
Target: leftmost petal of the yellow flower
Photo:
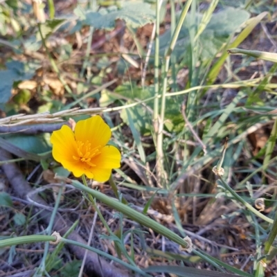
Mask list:
[[[78,157],[75,137],[69,126],[63,125],[61,129],[54,131],[50,141],[53,144],[54,159],[63,166],[63,161],[74,161],[73,156]]]

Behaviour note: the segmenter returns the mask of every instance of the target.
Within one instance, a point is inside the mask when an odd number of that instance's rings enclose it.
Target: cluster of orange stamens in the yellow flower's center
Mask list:
[[[82,163],[87,163],[89,166],[96,166],[91,162],[91,160],[97,155],[101,154],[101,146],[98,145],[95,148],[91,148],[91,143],[89,143],[89,141],[86,141],[85,143],[82,141],[76,141],[76,143],[78,157],[73,156],[73,159],[76,161],[82,161]]]

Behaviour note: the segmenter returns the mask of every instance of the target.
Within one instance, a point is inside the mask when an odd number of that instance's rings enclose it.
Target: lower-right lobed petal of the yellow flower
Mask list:
[[[121,155],[117,148],[107,145],[101,149],[101,154],[93,159],[96,167],[91,168],[93,179],[96,181],[107,181],[111,175],[111,169],[120,167]]]

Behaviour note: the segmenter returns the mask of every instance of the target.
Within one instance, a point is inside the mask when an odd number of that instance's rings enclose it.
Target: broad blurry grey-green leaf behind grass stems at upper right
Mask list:
[[[193,15],[188,13],[181,28],[174,53],[177,57],[184,57],[186,61],[186,53],[190,47],[190,35],[188,30],[193,28],[191,26],[195,21],[202,21],[202,14],[197,14],[198,19],[193,19]],[[211,20],[207,24],[205,30],[199,36],[199,44],[201,45],[200,59],[205,61],[213,58],[220,48],[226,43],[229,37],[235,33],[236,30],[249,19],[249,12],[235,8],[225,8],[220,12],[213,14]],[[163,55],[168,42],[170,41],[170,30],[161,35],[160,48],[161,55]],[[153,47],[154,49],[154,47]]]

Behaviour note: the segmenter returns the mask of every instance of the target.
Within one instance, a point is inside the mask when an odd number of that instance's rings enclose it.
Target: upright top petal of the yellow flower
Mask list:
[[[111,138],[109,125],[102,120],[101,116],[80,120],[75,126],[75,139],[85,143],[89,141],[92,147],[104,147]]]

